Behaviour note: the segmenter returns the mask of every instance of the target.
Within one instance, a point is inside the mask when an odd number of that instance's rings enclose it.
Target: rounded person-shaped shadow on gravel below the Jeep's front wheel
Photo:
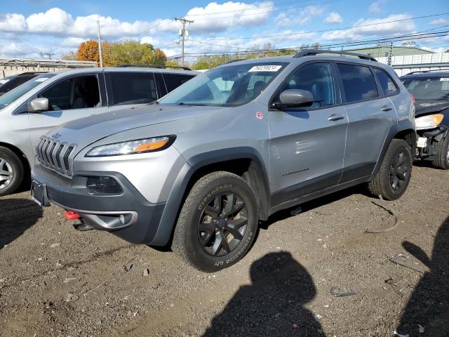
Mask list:
[[[314,282],[290,253],[263,256],[251,265],[250,278],[203,336],[324,336],[304,306],[316,295]]]

